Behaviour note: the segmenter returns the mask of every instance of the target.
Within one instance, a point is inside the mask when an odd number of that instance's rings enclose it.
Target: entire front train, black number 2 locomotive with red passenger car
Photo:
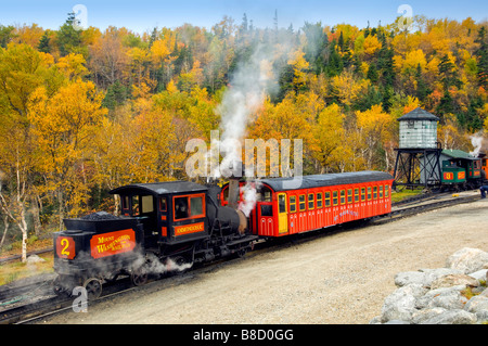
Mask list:
[[[244,256],[260,239],[277,239],[389,214],[393,177],[361,171],[244,181],[222,188],[188,181],[136,183],[111,191],[121,216],[95,213],[65,219],[54,234],[56,293],[87,289],[100,296],[119,274],[141,285],[150,274]],[[247,191],[255,192],[252,208]]]

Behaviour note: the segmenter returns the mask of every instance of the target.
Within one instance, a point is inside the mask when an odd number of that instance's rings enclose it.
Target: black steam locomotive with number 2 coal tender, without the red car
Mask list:
[[[120,217],[97,213],[65,219],[67,230],[54,234],[55,291],[69,294],[85,286],[97,297],[103,282],[119,274],[140,285],[150,274],[244,255],[257,236],[242,212],[220,206],[219,192],[184,181],[111,191],[120,197]]]

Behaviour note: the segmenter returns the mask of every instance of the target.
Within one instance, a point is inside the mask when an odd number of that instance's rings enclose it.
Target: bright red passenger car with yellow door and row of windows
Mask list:
[[[298,189],[286,189],[290,178],[262,179],[249,215],[255,235],[277,238],[368,219],[391,212],[391,175],[360,171],[303,177]],[[246,182],[241,182],[243,188]],[[228,203],[229,185],[220,201]],[[244,194],[241,189],[241,201]]]

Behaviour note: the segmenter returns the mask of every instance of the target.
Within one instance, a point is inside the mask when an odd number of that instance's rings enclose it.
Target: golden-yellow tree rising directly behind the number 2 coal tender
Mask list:
[[[93,138],[107,113],[102,100],[92,82],[80,80],[60,88],[51,98],[43,87],[30,97],[36,166],[59,201],[60,227],[65,212],[72,216],[87,212]]]

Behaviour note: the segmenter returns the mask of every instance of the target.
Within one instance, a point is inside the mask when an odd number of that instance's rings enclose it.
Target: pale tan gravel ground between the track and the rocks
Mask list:
[[[485,201],[248,254],[40,323],[365,324],[397,272],[488,251]]]

